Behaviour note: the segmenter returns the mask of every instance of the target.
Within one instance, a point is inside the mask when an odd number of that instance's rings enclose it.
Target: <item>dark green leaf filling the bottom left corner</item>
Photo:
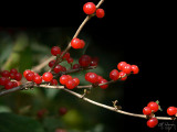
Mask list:
[[[1,132],[44,132],[41,124],[28,117],[0,113]]]

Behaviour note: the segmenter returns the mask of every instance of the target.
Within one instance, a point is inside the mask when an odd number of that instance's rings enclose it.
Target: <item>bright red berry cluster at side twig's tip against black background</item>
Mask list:
[[[121,72],[118,72],[118,70]],[[110,73],[110,78],[112,80],[117,80],[121,78],[121,80],[126,80],[127,75],[129,74],[138,74],[139,68],[136,65],[127,64],[126,62],[121,62],[117,64],[117,69],[113,69]]]

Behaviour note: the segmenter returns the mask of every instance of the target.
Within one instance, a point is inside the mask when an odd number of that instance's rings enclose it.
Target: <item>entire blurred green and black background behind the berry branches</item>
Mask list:
[[[41,7],[31,14],[21,12],[15,22],[0,26],[0,67],[17,68],[20,73],[30,69],[51,56],[54,45],[64,50],[85,18],[82,6],[87,2],[60,3],[52,10]],[[95,3],[98,0],[94,1]],[[61,8],[63,7],[63,8]],[[66,8],[64,8],[66,7]],[[176,106],[176,20],[167,8],[145,3],[113,3],[105,1],[101,7],[105,18],[92,18],[80,38],[86,43],[83,50],[71,50],[74,64],[81,55],[100,58],[95,72],[104,78],[125,61],[139,66],[139,74],[126,81],[110,85],[105,90],[93,89],[86,97],[112,106],[118,100],[123,110],[142,113],[149,101],[159,100],[163,112]],[[9,15],[8,15],[9,16]],[[12,19],[12,18],[11,18]],[[2,19],[3,21],[7,19]],[[27,23],[27,24],[25,24]],[[62,65],[70,67],[66,63]],[[46,66],[41,74],[48,70]],[[72,74],[88,85],[85,72]],[[83,91],[75,90],[82,94]],[[62,111],[62,112],[61,112]],[[167,122],[167,121],[159,121]],[[168,121],[168,123],[171,123]],[[145,119],[127,117],[90,105],[64,91],[55,89],[23,90],[0,97],[0,132],[126,132],[163,131],[149,129]],[[175,131],[175,130],[171,130]]]

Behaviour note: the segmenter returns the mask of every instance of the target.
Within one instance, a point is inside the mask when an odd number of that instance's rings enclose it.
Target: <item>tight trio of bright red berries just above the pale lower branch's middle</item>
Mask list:
[[[64,85],[69,89],[73,89],[80,84],[79,78],[76,77],[72,78],[72,76],[70,75],[62,75],[59,80],[60,80],[60,84]]]

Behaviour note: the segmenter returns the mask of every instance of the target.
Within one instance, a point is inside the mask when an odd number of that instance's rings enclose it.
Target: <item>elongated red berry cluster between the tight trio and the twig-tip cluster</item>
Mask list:
[[[94,85],[98,85],[98,84],[103,84],[103,82],[107,82],[106,79],[104,79],[102,76],[95,74],[95,73],[86,73],[85,74],[85,80],[94,84]],[[106,89],[108,87],[108,85],[102,85],[100,86],[102,89]]]

